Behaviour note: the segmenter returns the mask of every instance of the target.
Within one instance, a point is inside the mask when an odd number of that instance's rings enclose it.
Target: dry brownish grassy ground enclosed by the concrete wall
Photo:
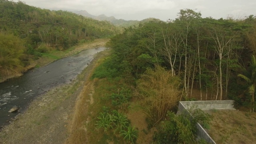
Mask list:
[[[217,144],[254,144],[256,113],[238,110],[211,110],[208,134]]]

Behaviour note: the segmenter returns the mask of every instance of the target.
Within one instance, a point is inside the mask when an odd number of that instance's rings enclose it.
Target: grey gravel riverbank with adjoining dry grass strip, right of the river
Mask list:
[[[85,102],[93,102],[93,82],[89,78],[104,53],[96,54],[76,81],[36,98],[26,112],[0,131],[0,144],[63,144],[74,142],[74,138],[82,138],[80,143],[84,143],[85,137],[76,134],[86,132],[86,119],[81,113],[86,113]]]

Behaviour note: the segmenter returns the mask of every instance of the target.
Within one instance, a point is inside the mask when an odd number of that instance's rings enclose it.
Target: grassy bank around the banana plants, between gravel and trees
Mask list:
[[[124,117],[128,118],[128,124],[135,127],[139,133],[138,143],[150,143],[154,129],[148,130],[145,114],[142,112],[141,106],[133,100],[125,102],[122,106],[113,105],[112,95],[123,89],[130,90],[133,94],[132,80],[121,77],[116,78],[91,78],[92,74],[99,71],[110,56],[110,51],[105,50],[100,59],[95,63],[93,73],[88,75],[88,80],[84,83],[82,91],[78,95],[75,106],[75,112],[71,124],[69,125],[70,136],[66,144],[125,144],[124,136],[120,136],[119,132],[114,134],[114,130],[105,132],[103,129],[97,129],[96,124],[99,120],[100,113],[111,113],[116,111]]]

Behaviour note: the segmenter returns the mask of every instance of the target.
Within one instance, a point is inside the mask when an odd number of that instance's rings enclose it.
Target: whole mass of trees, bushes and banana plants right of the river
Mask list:
[[[126,28],[108,46],[112,55],[92,76],[108,84],[117,83],[106,88],[111,91],[104,94],[105,106],[95,118],[96,128],[105,134],[120,131],[127,142],[136,143],[140,138],[143,143],[142,137],[156,128],[153,136],[156,144],[191,144],[197,143],[194,124],[186,116],[174,114],[178,101],[235,100],[236,106],[254,111],[256,18],[253,15],[242,20],[231,17],[216,20],[202,18],[200,12],[190,9],[180,10],[175,20]],[[136,123],[131,117],[134,109],[145,115],[147,130],[131,126]],[[206,123],[210,120],[205,114],[201,116]],[[121,117],[122,121],[118,119]]]

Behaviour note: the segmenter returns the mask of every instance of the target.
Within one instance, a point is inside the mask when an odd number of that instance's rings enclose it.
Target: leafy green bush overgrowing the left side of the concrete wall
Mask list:
[[[196,143],[196,123],[208,124],[211,117],[198,108],[191,108],[189,111],[193,118],[185,111],[178,115],[167,112],[167,119],[159,124],[158,131],[154,134],[156,144]]]

